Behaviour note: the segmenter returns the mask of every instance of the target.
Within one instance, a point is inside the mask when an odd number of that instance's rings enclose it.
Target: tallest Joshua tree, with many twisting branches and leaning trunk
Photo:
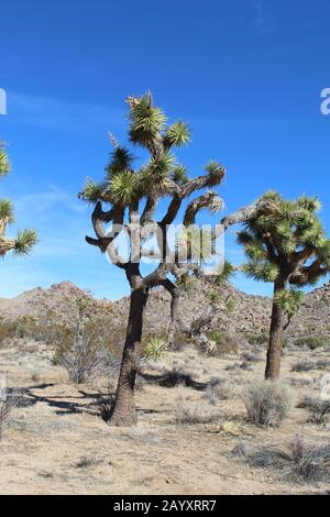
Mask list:
[[[88,179],[80,197],[95,209],[91,216],[96,239],[86,237],[89,244],[107,252],[111,262],[123,271],[131,287],[130,316],[127,339],[122,356],[121,372],[117,388],[116,403],[111,422],[113,425],[133,425],[136,421],[134,407],[134,382],[140,362],[140,344],[143,327],[143,315],[151,288],[163,286],[172,296],[172,321],[168,339],[172,341],[177,326],[179,285],[185,280],[194,265],[182,262],[180,250],[169,250],[168,227],[178,222],[179,211],[185,205],[180,218],[183,223],[182,242],[185,241],[187,255],[191,253],[191,230],[196,216],[202,209],[211,212],[223,206],[217,193],[212,190],[224,177],[224,168],[217,162],[210,162],[205,174],[188,178],[186,168],[176,162],[173,151],[186,145],[190,140],[190,130],[182,121],[166,123],[164,112],[153,105],[147,92],[141,98],[129,97],[129,140],[150,155],[148,161],[133,168],[133,155],[125,146],[119,145],[110,135],[113,152],[106,169],[106,178],[100,183]],[[206,189],[193,200],[196,191]],[[102,202],[109,205],[103,211]],[[163,213],[161,213],[161,209]],[[243,208],[222,220],[224,230],[246,218],[258,209],[255,205]],[[155,219],[157,215],[157,220]],[[110,231],[105,224],[111,223]],[[130,241],[130,256],[119,256],[116,239],[125,232]],[[143,244],[154,232],[157,242],[158,263],[153,272],[142,276],[140,263],[144,255]],[[198,233],[198,230],[197,230]],[[217,237],[213,231],[212,242]],[[199,233],[199,238],[201,234]],[[118,241],[117,241],[118,242]]]

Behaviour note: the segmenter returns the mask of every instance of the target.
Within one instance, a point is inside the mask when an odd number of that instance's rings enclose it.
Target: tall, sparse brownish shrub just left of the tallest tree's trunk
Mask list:
[[[76,300],[78,316],[70,322],[56,326],[53,334],[54,364],[66,370],[73,383],[84,383],[96,375],[113,374],[119,367],[119,353],[113,353],[112,341],[103,319],[92,315],[92,305],[85,297]]]

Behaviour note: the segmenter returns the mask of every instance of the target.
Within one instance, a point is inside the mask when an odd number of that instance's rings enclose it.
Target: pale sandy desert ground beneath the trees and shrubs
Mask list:
[[[282,383],[292,391],[293,408],[278,428],[249,422],[242,402],[246,385],[263,377],[265,353],[258,344],[212,358],[187,345],[160,363],[145,363],[136,391],[139,425],[129,429],[110,427],[98,414],[95,403],[107,393],[106,378],[74,385],[52,364],[47,345],[6,341],[0,371],[8,386],[26,391],[3,429],[0,493],[327,493],[329,483],[293,481],[274,465],[251,464],[249,453],[264,447],[285,450],[297,435],[307,446],[329,444],[329,424],[310,422],[309,411],[297,407],[305,396],[319,396],[327,370],[292,371],[298,361],[327,364],[329,348],[284,351]],[[212,398],[206,385],[215,376],[226,381],[226,389]],[[114,386],[116,380],[110,381]],[[183,405],[212,418],[178,422]]]

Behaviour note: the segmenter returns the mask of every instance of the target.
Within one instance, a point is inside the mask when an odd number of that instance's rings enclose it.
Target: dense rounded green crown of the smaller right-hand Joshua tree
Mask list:
[[[258,280],[294,286],[316,283],[330,268],[330,240],[317,216],[317,198],[286,200],[273,190],[267,209],[248,221],[238,241],[249,258],[245,273]]]

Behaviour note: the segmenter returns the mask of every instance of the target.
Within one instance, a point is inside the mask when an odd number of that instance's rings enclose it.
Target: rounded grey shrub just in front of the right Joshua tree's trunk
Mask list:
[[[243,402],[249,420],[256,426],[278,427],[292,408],[289,389],[273,381],[248,385]]]

